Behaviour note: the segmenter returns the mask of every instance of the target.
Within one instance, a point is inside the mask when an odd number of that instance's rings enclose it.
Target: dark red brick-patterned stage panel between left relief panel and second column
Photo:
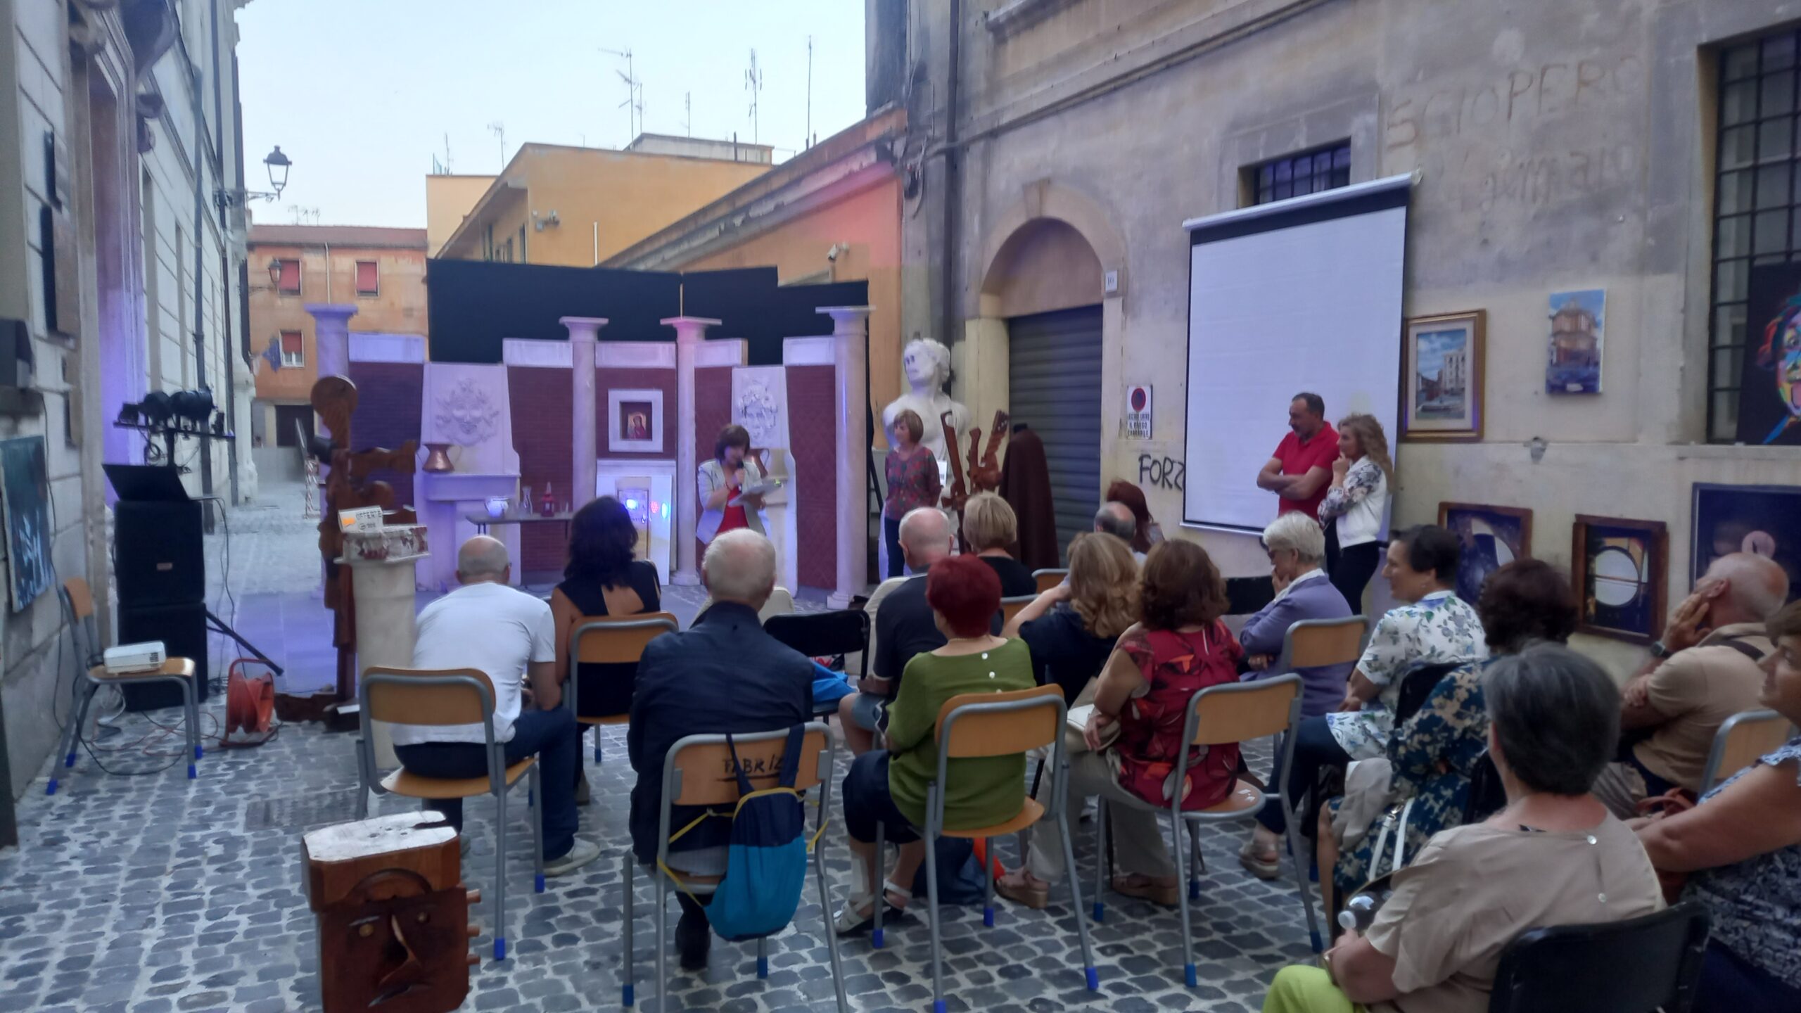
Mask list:
[[[513,415],[513,449],[519,451],[519,481],[531,496],[544,494],[551,483],[557,508],[566,501],[580,508],[594,497],[593,490],[575,494],[575,436],[569,416],[575,411],[575,391],[569,370],[555,366],[508,366],[508,400]],[[537,506],[537,499],[533,499]],[[562,525],[520,525],[519,570],[522,573],[560,571],[567,546]]]

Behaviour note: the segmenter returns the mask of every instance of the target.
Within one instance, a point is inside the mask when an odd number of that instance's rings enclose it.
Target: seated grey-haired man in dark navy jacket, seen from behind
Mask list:
[[[632,786],[632,853],[657,858],[663,762],[686,735],[774,732],[812,717],[812,662],[764,633],[756,611],[776,588],[776,550],[764,535],[738,528],[706,546],[701,579],[713,607],[686,633],[663,634],[645,647],[632,692],[625,743],[638,771]],[[704,809],[679,806],[670,826],[695,824]],[[729,811],[726,811],[729,815]],[[695,876],[726,872],[731,820],[701,820],[670,844],[670,867]],[[706,912],[686,892],[675,925],[683,970],[706,966],[713,943]]]

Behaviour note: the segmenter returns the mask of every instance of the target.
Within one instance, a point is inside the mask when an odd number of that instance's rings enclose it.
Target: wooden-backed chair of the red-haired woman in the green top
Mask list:
[[[1034,687],[1012,692],[965,692],[944,701],[938,708],[938,773],[926,786],[926,827],[920,838],[926,844],[926,898],[931,907],[931,1008],[944,1013],[944,970],[942,970],[942,928],[938,919],[938,856],[937,840],[956,836],[965,840],[989,840],[1003,835],[1023,835],[1027,827],[1045,817],[1045,806],[1027,795],[1019,813],[987,827],[947,829],[944,826],[944,791],[940,784],[949,782],[951,761],[965,757],[1009,757],[1039,746],[1050,746],[1052,788],[1050,804],[1055,811],[1057,826],[1063,829],[1063,860],[1070,867],[1070,914],[1075,917],[1075,935],[1082,945],[1082,972],[1091,991],[1100,991],[1100,972],[1095,970],[1095,955],[1088,946],[1088,925],[1082,923],[1082,889],[1075,876],[1075,845],[1070,840],[1070,762],[1063,752],[1063,723],[1066,705],[1063,689]],[[875,824],[875,854],[882,865],[886,858],[888,827]],[[1019,840],[1019,860],[1025,862],[1025,840]],[[985,896],[982,898],[982,925],[994,926],[994,876],[983,871]],[[877,883],[886,881],[879,871]],[[882,905],[875,903],[875,928],[870,943],[882,946]]]

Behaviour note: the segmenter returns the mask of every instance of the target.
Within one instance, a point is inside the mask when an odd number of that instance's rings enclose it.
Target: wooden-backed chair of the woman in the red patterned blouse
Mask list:
[[[1302,681],[1300,676],[1295,674],[1259,680],[1255,683],[1225,683],[1207,687],[1189,699],[1189,717],[1183,723],[1181,734],[1183,741],[1196,746],[1217,746],[1261,739],[1264,735],[1282,735],[1282,748],[1277,753],[1277,771],[1281,773],[1279,782],[1286,784],[1290,766],[1295,761],[1295,732],[1300,728],[1300,696]],[[1181,750],[1181,761],[1176,764],[1174,784],[1181,784],[1189,777],[1190,752],[1192,750]],[[1295,856],[1306,854],[1306,851],[1300,849],[1300,835],[1295,827],[1295,811],[1288,806],[1288,795],[1282,791],[1264,793],[1255,784],[1243,779],[1234,780],[1232,793],[1226,795],[1223,802],[1208,809],[1196,811],[1183,809],[1181,799],[1174,799],[1167,808],[1163,808],[1136,800],[1115,802],[1100,797],[1099,811],[1095,813],[1095,921],[1100,921],[1106,910],[1100,898],[1104,896],[1108,872],[1108,806],[1135,806],[1145,811],[1169,813],[1169,854],[1178,860],[1181,856],[1181,826],[1187,824],[1190,847],[1189,889],[1178,890],[1176,896],[1178,907],[1181,908],[1181,977],[1189,988],[1194,988],[1194,932],[1190,928],[1189,901],[1201,898],[1201,881],[1194,874],[1194,858],[1201,851],[1199,827],[1203,824],[1226,824],[1255,818],[1272,799],[1282,808],[1282,817],[1288,826],[1290,853]],[[1320,923],[1313,910],[1313,898],[1308,896],[1308,863],[1300,860],[1295,862],[1295,889],[1300,896],[1300,905],[1308,908],[1308,932],[1313,937],[1313,952],[1318,954],[1324,950],[1320,941]]]

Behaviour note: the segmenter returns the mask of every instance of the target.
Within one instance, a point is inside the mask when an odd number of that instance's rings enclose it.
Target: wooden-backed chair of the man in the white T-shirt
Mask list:
[[[531,775],[531,853],[537,863],[533,890],[544,892],[544,797],[538,786],[538,761],[526,757],[506,764],[506,746],[493,739],[493,681],[475,669],[384,669],[371,665],[357,680],[360,732],[357,737],[357,818],[369,815],[369,791],[407,799],[474,799],[493,795],[493,959],[506,959],[506,793],[526,773]],[[369,721],[394,725],[481,725],[488,748],[486,777],[421,777],[398,768],[375,779],[375,735]]]

